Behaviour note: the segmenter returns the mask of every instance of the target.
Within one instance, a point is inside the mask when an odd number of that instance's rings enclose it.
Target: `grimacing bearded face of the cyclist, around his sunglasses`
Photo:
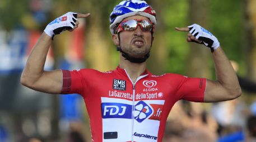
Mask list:
[[[144,16],[131,16],[124,20],[148,20]],[[149,20],[148,20],[149,21]],[[133,58],[143,58],[151,49],[151,31],[142,31],[138,26],[134,31],[122,31],[120,34],[120,46],[122,50]]]

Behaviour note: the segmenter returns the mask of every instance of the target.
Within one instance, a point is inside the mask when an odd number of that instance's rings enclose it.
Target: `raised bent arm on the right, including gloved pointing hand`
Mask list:
[[[175,29],[178,31],[188,31],[188,42],[204,44],[212,51],[217,81],[207,79],[204,102],[220,102],[239,97],[241,95],[241,88],[238,77],[229,59],[221,49],[217,38],[197,24],[188,27],[176,27]]]

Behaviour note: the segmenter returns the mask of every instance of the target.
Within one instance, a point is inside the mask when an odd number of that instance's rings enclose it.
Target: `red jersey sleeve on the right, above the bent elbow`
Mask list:
[[[204,102],[204,92],[206,88],[206,78],[184,77],[177,94],[180,100],[192,102]]]

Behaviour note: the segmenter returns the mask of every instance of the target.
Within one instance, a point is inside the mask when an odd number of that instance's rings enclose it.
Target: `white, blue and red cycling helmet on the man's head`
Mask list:
[[[109,17],[111,34],[114,34],[114,27],[118,26],[124,18],[134,15],[145,16],[156,25],[156,12],[147,2],[140,0],[122,1],[114,7]]]

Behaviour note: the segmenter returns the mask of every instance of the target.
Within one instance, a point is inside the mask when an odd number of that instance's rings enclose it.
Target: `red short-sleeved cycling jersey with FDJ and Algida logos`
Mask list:
[[[62,93],[78,93],[90,117],[92,141],[162,141],[167,116],[179,100],[203,102],[205,78],[153,75],[132,82],[125,69],[62,70]]]

